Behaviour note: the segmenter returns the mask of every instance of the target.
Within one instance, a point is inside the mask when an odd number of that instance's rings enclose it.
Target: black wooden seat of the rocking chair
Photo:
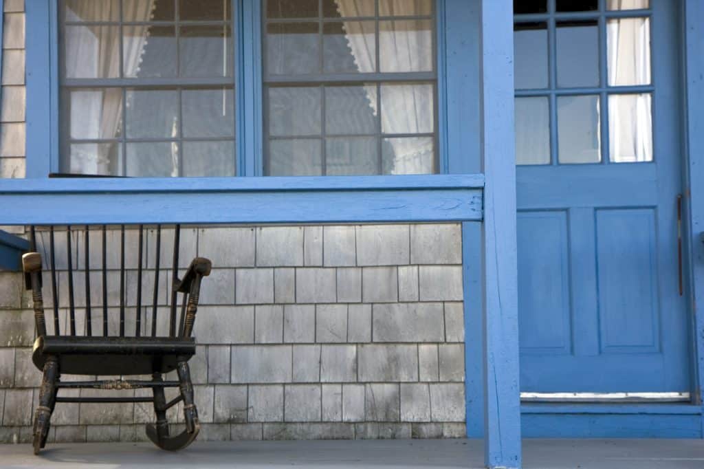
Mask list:
[[[47,356],[58,357],[61,374],[147,375],[175,370],[177,361],[196,353],[194,338],[42,336],[34,341],[32,361],[44,369]]]

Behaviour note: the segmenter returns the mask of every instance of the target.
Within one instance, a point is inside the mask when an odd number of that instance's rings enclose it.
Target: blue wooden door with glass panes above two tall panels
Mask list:
[[[516,3],[521,389],[687,392],[679,2]]]

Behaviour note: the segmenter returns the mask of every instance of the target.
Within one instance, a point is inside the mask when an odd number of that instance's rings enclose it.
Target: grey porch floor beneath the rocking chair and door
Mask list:
[[[524,468],[704,468],[704,440],[527,439]],[[1,468],[482,468],[467,439],[196,442],[180,453],[146,443],[0,445]]]

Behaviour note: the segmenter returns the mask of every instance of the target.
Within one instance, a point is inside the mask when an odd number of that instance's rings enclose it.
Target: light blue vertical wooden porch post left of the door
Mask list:
[[[513,2],[482,1],[484,462],[521,467]]]

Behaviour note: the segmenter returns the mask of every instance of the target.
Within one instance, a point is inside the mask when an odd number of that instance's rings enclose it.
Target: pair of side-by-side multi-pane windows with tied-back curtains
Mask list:
[[[261,42],[263,174],[438,172],[433,0],[253,1],[248,38],[232,0],[61,0],[58,169],[237,175],[239,37]]]

